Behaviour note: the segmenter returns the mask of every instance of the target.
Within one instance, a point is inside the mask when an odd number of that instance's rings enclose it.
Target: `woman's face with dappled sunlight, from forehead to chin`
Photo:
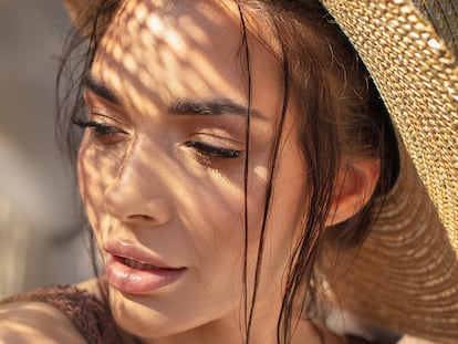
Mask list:
[[[243,263],[247,257],[250,295],[283,101],[279,63],[249,37],[246,256],[241,37],[232,1],[126,1],[85,80],[91,116],[79,155],[81,194],[105,261],[113,313],[138,336],[239,333]],[[273,331],[267,324],[277,322],[305,188],[291,117],[280,145],[256,313]]]

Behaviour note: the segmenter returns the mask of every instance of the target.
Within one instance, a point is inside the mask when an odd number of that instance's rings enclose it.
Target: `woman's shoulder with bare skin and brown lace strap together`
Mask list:
[[[97,342],[113,329],[96,285],[40,288],[0,301],[0,344]]]

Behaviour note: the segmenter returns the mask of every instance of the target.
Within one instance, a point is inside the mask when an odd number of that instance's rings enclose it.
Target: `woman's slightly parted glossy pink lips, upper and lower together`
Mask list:
[[[125,293],[148,294],[177,282],[186,272],[157,259],[153,253],[125,242],[104,246],[108,283]]]

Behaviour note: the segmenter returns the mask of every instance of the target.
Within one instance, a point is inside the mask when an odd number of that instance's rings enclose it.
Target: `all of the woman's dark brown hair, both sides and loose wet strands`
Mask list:
[[[66,138],[66,147],[73,158],[77,150],[79,135],[73,134],[72,121],[84,107],[81,79],[91,69],[100,39],[119,2],[92,1],[84,13],[77,17],[76,24],[83,35],[74,31],[62,55],[58,76],[59,128],[62,137]],[[321,313],[316,302],[321,290],[320,248],[324,242],[330,242],[343,250],[357,249],[367,236],[369,225],[378,211],[374,199],[383,197],[396,177],[396,140],[386,110],[363,63],[318,0],[240,0],[238,4],[242,38],[240,53],[248,76],[248,98],[250,100],[252,81],[247,34],[256,37],[269,48],[270,40],[266,40],[254,28],[270,28],[267,31],[280,46],[280,50],[272,48],[271,51],[282,65],[284,90],[275,142],[280,140],[284,116],[293,104],[299,110],[295,118],[299,144],[308,165],[309,188],[306,194],[304,190],[304,211],[299,223],[301,236],[287,267],[285,292],[279,310],[278,342],[288,343],[293,322],[300,316],[318,317]],[[86,49],[74,60],[72,53],[77,52],[77,46],[81,45]],[[75,66],[75,61],[80,65]],[[59,91],[62,91],[64,81],[67,86],[64,96],[60,97]],[[274,145],[258,264],[252,272],[256,281],[262,263],[263,234],[278,154],[278,145]],[[345,171],[348,167],[346,164],[351,164],[352,159],[361,157],[381,160],[382,171],[374,197],[352,219],[326,228],[337,174]],[[246,187],[248,183],[246,175]],[[95,246],[93,248],[95,252]],[[244,275],[247,279],[247,270]],[[246,301],[250,300],[244,310],[247,343],[256,293],[254,288],[252,295],[244,295]]]

